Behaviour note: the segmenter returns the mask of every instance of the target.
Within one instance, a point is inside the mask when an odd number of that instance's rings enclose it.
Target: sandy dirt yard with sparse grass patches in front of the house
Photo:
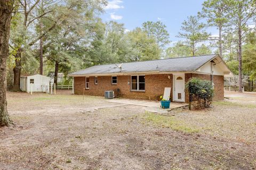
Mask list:
[[[8,92],[0,169],[255,169],[256,95],[170,115],[101,97]]]

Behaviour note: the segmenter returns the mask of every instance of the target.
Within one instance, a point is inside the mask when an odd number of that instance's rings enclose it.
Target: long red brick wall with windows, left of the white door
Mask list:
[[[169,75],[170,79],[168,78]],[[128,81],[131,81],[130,75],[117,76],[117,84],[111,84],[111,76],[99,76],[98,84],[94,84],[94,77],[90,77],[90,89],[85,89],[85,95],[104,96],[105,91],[119,88],[123,98],[157,100],[159,96],[164,94],[165,87],[172,88],[172,74],[145,75],[145,91],[131,91]],[[84,87],[85,77],[75,77],[75,94],[82,95]]]

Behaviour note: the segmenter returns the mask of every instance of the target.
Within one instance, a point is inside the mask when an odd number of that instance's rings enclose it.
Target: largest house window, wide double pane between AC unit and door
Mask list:
[[[132,91],[145,91],[145,75],[132,75],[131,76],[131,90]]]

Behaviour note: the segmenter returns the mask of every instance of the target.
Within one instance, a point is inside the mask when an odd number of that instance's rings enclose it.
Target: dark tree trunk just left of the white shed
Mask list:
[[[21,52],[22,49],[19,48],[15,55],[15,66],[13,68],[13,91],[20,91]]]

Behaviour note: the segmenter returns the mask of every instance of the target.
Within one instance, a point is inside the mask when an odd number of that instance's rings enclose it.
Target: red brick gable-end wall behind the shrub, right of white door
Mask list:
[[[192,77],[210,80],[210,74],[195,74],[195,73],[186,73],[185,74],[185,83]],[[213,75],[214,83],[214,100],[223,100],[224,99],[224,77],[223,75]],[[188,92],[186,91],[186,103],[188,103]]]

